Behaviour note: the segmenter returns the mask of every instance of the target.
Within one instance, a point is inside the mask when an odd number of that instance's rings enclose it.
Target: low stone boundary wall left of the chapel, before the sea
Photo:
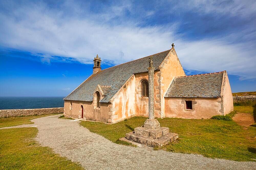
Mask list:
[[[41,114],[63,113],[64,108],[41,108],[41,109],[5,109],[0,110],[0,117],[32,116]]]

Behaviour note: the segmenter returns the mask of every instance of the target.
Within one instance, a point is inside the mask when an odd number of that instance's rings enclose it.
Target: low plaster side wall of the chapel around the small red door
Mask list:
[[[93,102],[74,101],[72,100],[72,109],[70,110],[70,100],[64,101],[64,115],[65,117],[81,118],[83,106],[83,119],[108,122],[110,119],[111,103],[100,103],[100,109],[95,108]]]

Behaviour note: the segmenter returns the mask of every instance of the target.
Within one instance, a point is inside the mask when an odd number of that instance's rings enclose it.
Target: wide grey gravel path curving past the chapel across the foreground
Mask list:
[[[79,121],[58,117],[31,120],[39,130],[36,140],[86,169],[256,169],[255,162],[118,145],[79,126]]]

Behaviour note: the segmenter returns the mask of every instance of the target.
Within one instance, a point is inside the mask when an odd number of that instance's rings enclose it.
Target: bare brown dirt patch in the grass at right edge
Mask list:
[[[254,124],[254,118],[251,113],[237,113],[232,117],[233,121],[241,126],[250,126]]]

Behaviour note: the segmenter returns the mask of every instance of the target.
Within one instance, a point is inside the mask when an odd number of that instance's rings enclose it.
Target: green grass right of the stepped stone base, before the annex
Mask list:
[[[159,120],[179,134],[179,140],[162,149],[181,153],[197,153],[210,158],[255,161],[256,128],[243,129],[233,121],[165,118]]]

